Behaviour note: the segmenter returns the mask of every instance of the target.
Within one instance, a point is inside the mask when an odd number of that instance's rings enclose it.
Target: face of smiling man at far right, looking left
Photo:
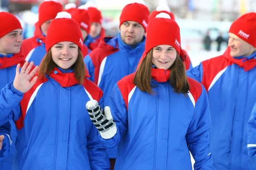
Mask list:
[[[232,57],[249,56],[255,52],[256,48],[246,43],[233,33],[229,33],[228,46],[230,47],[230,55]]]

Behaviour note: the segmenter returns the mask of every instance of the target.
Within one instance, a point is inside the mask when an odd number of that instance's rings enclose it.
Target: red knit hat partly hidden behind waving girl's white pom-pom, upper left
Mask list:
[[[49,19],[54,19],[59,12],[63,11],[62,5],[53,0],[45,0],[39,6],[38,13],[39,13],[39,26],[41,26],[45,21]]]

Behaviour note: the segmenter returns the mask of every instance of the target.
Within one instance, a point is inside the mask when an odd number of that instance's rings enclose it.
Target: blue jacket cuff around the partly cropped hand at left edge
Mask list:
[[[0,161],[5,158],[9,151],[10,146],[12,145],[11,139],[11,124],[10,122],[6,122],[4,125],[0,126],[0,135],[4,135],[5,139],[2,142],[2,149],[0,150]]]

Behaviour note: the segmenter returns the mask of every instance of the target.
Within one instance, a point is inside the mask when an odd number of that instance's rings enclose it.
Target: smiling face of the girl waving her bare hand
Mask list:
[[[62,69],[68,70],[77,61],[78,45],[63,41],[51,47],[51,54],[55,64]]]

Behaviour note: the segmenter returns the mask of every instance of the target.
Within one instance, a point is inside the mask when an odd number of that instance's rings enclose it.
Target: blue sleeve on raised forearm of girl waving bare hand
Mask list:
[[[21,116],[19,102],[23,98],[23,93],[13,87],[13,82],[8,83],[0,90],[0,126],[7,121],[18,120]]]

